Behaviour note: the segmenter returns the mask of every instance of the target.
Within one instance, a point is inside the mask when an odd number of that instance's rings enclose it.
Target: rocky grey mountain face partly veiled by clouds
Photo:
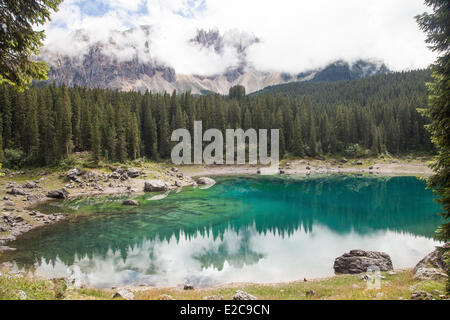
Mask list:
[[[133,39],[139,35],[140,42]],[[260,40],[252,35],[217,30],[199,30],[189,44],[199,50],[213,50],[219,56],[232,51],[236,61],[221,74],[201,76],[177,74],[176,70],[152,55],[152,28],[142,26],[125,32],[113,32],[94,40],[83,30],[69,35],[74,52],[44,48],[39,59],[50,66],[49,81],[68,86],[87,86],[118,90],[153,92],[192,91],[194,94],[227,94],[231,86],[244,85],[254,92],[270,85],[289,81],[338,81],[388,72],[383,64],[338,61],[320,70],[301,74],[263,72],[247,61],[247,49]]]

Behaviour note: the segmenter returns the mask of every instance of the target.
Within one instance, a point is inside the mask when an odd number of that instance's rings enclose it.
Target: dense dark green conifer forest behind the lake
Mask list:
[[[428,71],[339,83],[294,83],[245,96],[145,94],[56,85],[18,93],[0,87],[0,161],[50,165],[75,151],[125,161],[170,157],[178,128],[281,129],[280,152],[296,157],[430,152],[417,108]]]

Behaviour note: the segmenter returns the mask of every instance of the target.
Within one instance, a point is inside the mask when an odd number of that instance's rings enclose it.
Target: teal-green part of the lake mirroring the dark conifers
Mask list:
[[[72,223],[35,230],[16,241],[15,252],[1,257],[30,265],[44,258],[59,258],[72,265],[80,257],[106,258],[108,250],[127,259],[130,248],[144,241],[169,241],[193,237],[223,240],[227,230],[244,234],[282,237],[316,224],[338,234],[370,234],[391,230],[431,237],[439,224],[438,206],[431,192],[415,178],[323,176],[310,178],[221,178],[207,190],[189,189],[160,201],[139,197],[139,208],[120,205],[120,197],[81,199],[64,203],[86,215]],[[121,214],[99,214],[99,213]],[[218,248],[196,257],[202,266],[220,269],[225,261],[234,265],[254,263],[261,255],[239,240],[234,252]],[[109,251],[111,252],[111,251]],[[149,249],[148,254],[152,252]],[[156,268],[156,266],[153,266]],[[152,266],[149,266],[152,268]]]

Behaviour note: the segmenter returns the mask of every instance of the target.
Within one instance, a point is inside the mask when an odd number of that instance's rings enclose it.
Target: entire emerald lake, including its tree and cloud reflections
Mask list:
[[[72,221],[28,233],[1,260],[95,287],[280,282],[332,275],[351,249],[412,267],[437,245],[441,223],[413,177],[221,177],[208,189],[135,197],[140,207],[123,199],[41,205]]]

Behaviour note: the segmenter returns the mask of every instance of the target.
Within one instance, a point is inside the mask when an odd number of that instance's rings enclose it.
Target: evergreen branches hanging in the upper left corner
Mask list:
[[[0,84],[6,82],[19,90],[33,79],[47,79],[44,62],[33,61],[45,38],[44,31],[33,28],[50,20],[62,0],[0,1]]]

